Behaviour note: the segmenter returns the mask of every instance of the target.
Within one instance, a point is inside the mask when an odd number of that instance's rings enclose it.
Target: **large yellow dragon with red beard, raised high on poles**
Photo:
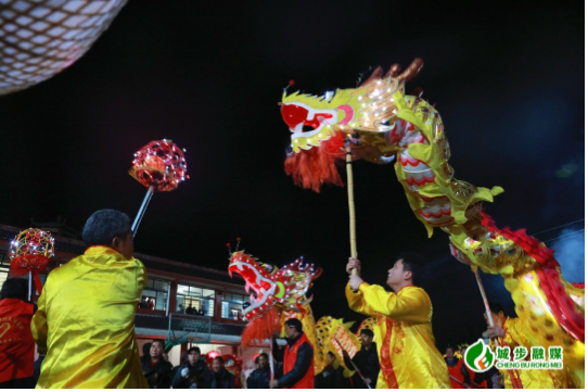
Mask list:
[[[294,182],[319,191],[343,185],[337,163],[345,160],[345,139],[354,160],[395,168],[414,215],[433,235],[449,235],[452,254],[487,274],[500,274],[537,345],[564,349],[574,383],[585,385],[585,290],[566,282],[553,252],[524,230],[498,229],[482,212],[502,188],[477,188],[453,177],[450,149],[439,113],[420,93],[407,94],[405,83],[422,68],[417,59],[406,72],[378,68],[358,88],[324,96],[284,91],[281,113],[292,132],[285,172]]]

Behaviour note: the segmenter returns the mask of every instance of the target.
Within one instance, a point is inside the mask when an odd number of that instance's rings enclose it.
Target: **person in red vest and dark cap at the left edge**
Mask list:
[[[8,279],[0,291],[0,389],[35,388],[30,320],[36,306],[27,296],[24,279]]]

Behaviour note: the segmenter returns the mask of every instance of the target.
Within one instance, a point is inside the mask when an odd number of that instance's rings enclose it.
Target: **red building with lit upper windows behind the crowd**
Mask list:
[[[20,231],[22,229],[16,227],[0,225],[0,286],[10,276],[10,242]],[[55,237],[55,256],[48,270],[85,251],[81,241]],[[241,334],[246,325],[241,314],[247,301],[241,277],[231,278],[226,270],[140,253],[136,253],[135,257],[144,264],[149,277],[136,315],[140,349],[153,339],[165,339],[169,345],[174,345],[168,356],[175,366],[180,365],[190,346],[197,345],[203,354],[216,351],[221,355],[237,355],[244,361],[244,369],[253,367],[251,358],[264,346],[246,351],[240,349]],[[44,283],[47,274],[40,278]],[[35,302],[38,293],[34,284],[29,287],[31,301]]]

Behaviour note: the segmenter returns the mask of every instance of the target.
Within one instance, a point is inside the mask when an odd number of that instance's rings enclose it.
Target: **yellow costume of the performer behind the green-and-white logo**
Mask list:
[[[511,353],[517,346],[524,346],[531,353],[532,347],[537,346],[528,340],[524,333],[523,320],[520,318],[508,318],[502,329],[504,338],[499,339],[498,343],[502,347],[510,347]],[[549,353],[549,347],[545,347]],[[506,389],[567,389],[566,370],[500,370],[504,378]]]

